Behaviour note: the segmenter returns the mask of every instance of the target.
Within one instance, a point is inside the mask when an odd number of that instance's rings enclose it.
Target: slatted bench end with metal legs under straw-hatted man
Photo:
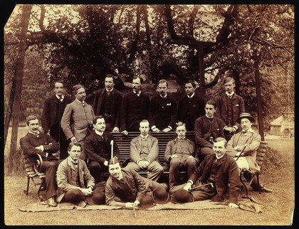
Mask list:
[[[266,155],[266,152],[267,152],[267,147],[268,147],[268,142],[261,141],[260,146],[256,150],[256,163],[258,164],[258,166],[261,167],[261,169],[262,169],[262,165],[263,165],[264,156]],[[251,180],[250,181],[246,181],[246,179],[243,178],[244,173],[251,174]],[[246,190],[246,196],[248,196],[248,188],[251,186],[251,183],[253,182],[253,179],[255,177],[256,177],[256,180],[258,181],[258,192],[261,194],[261,185],[260,185],[260,179],[259,179],[260,174],[261,174],[261,170],[257,171],[257,172],[252,172],[252,171],[248,171],[247,169],[243,169],[241,171],[240,181],[241,181],[241,183],[243,184],[243,187]],[[247,186],[246,186],[246,183],[247,183]]]

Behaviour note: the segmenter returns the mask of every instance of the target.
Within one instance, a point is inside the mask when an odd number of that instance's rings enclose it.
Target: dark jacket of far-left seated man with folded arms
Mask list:
[[[55,142],[50,135],[43,133],[36,136],[35,134],[28,132],[20,139],[20,145],[24,154],[28,156],[40,154],[42,159],[47,161],[56,160],[56,157],[51,154],[54,154],[59,150],[59,143]],[[41,149],[36,149],[36,147],[40,146],[43,146],[43,151],[41,151]],[[47,158],[46,153],[48,153]]]

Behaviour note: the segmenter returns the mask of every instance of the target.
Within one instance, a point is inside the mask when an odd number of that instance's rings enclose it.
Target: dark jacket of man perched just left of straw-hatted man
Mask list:
[[[217,137],[224,137],[224,122],[218,117],[213,117],[210,120],[206,115],[203,115],[195,120],[194,135],[198,147],[212,149],[213,144],[209,142],[209,139],[210,137],[213,137],[213,140]]]

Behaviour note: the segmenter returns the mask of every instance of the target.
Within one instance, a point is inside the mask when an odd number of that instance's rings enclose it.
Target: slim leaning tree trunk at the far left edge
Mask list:
[[[16,60],[16,90],[14,95],[14,105],[12,109],[12,130],[11,130],[11,151],[9,154],[9,174],[13,174],[16,158],[16,140],[18,139],[19,110],[21,103],[21,89],[23,84],[23,68],[26,50],[26,32],[28,29],[29,18],[32,5],[23,5],[20,22],[21,34],[19,43],[19,55]]]

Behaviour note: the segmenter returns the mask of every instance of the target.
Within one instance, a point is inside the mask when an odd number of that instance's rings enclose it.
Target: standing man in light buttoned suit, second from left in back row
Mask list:
[[[79,142],[83,151],[80,154],[80,159],[87,160],[87,155],[84,151],[85,137],[92,131],[91,125],[95,118],[93,107],[85,102],[86,94],[83,85],[73,86],[73,95],[75,100],[66,105],[61,119],[61,128],[67,139],[70,142]]]

